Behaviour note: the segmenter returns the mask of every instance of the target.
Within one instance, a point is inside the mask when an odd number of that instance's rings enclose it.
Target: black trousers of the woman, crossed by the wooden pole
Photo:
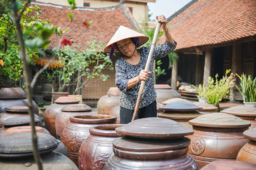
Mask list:
[[[131,122],[133,117],[133,110],[126,109],[120,106],[120,123],[127,124]],[[156,100],[152,102],[150,105],[142,107],[138,110],[137,119],[145,118],[145,117],[156,117]]]

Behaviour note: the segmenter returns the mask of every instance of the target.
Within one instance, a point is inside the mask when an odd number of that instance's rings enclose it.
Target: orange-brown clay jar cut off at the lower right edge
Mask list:
[[[256,163],[256,127],[244,131],[243,136],[249,139],[249,142],[246,143],[243,148],[241,148],[236,160]]]

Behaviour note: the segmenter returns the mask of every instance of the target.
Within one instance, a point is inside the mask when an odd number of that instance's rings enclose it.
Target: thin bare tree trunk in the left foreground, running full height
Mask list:
[[[12,0],[13,4],[15,4],[16,0]],[[13,8],[13,22],[15,23],[16,29],[17,29],[17,36],[18,36],[18,41],[19,41],[19,46],[20,46],[20,57],[22,59],[23,63],[23,70],[24,70],[24,77],[25,77],[25,82],[26,82],[26,93],[27,93],[27,99],[28,99],[28,113],[30,115],[30,125],[32,128],[32,143],[33,143],[33,157],[34,160],[36,161],[38,165],[38,170],[43,170],[42,168],[42,163],[38,151],[38,146],[37,146],[37,136],[36,136],[36,130],[35,130],[35,124],[34,124],[34,114],[32,110],[32,91],[31,91],[31,82],[29,79],[28,75],[28,59],[26,57],[26,51],[25,51],[25,45],[24,45],[24,40],[23,40],[23,34],[22,30],[20,28],[20,18],[17,14],[17,7],[14,5]]]

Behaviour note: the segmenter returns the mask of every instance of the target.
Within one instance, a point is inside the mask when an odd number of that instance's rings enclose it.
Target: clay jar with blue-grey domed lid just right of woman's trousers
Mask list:
[[[198,107],[192,102],[175,101],[159,107],[162,112],[157,114],[157,117],[175,120],[184,127],[192,129],[192,125],[188,121],[201,116],[202,114],[197,112],[200,109],[202,107]]]

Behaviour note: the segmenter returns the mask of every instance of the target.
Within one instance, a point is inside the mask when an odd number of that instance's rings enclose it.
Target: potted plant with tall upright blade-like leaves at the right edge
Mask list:
[[[241,77],[237,76],[240,79],[241,90],[237,85],[236,88],[243,96],[244,105],[256,107],[256,77],[253,80],[251,75],[248,75],[248,77],[246,74],[242,74]]]

